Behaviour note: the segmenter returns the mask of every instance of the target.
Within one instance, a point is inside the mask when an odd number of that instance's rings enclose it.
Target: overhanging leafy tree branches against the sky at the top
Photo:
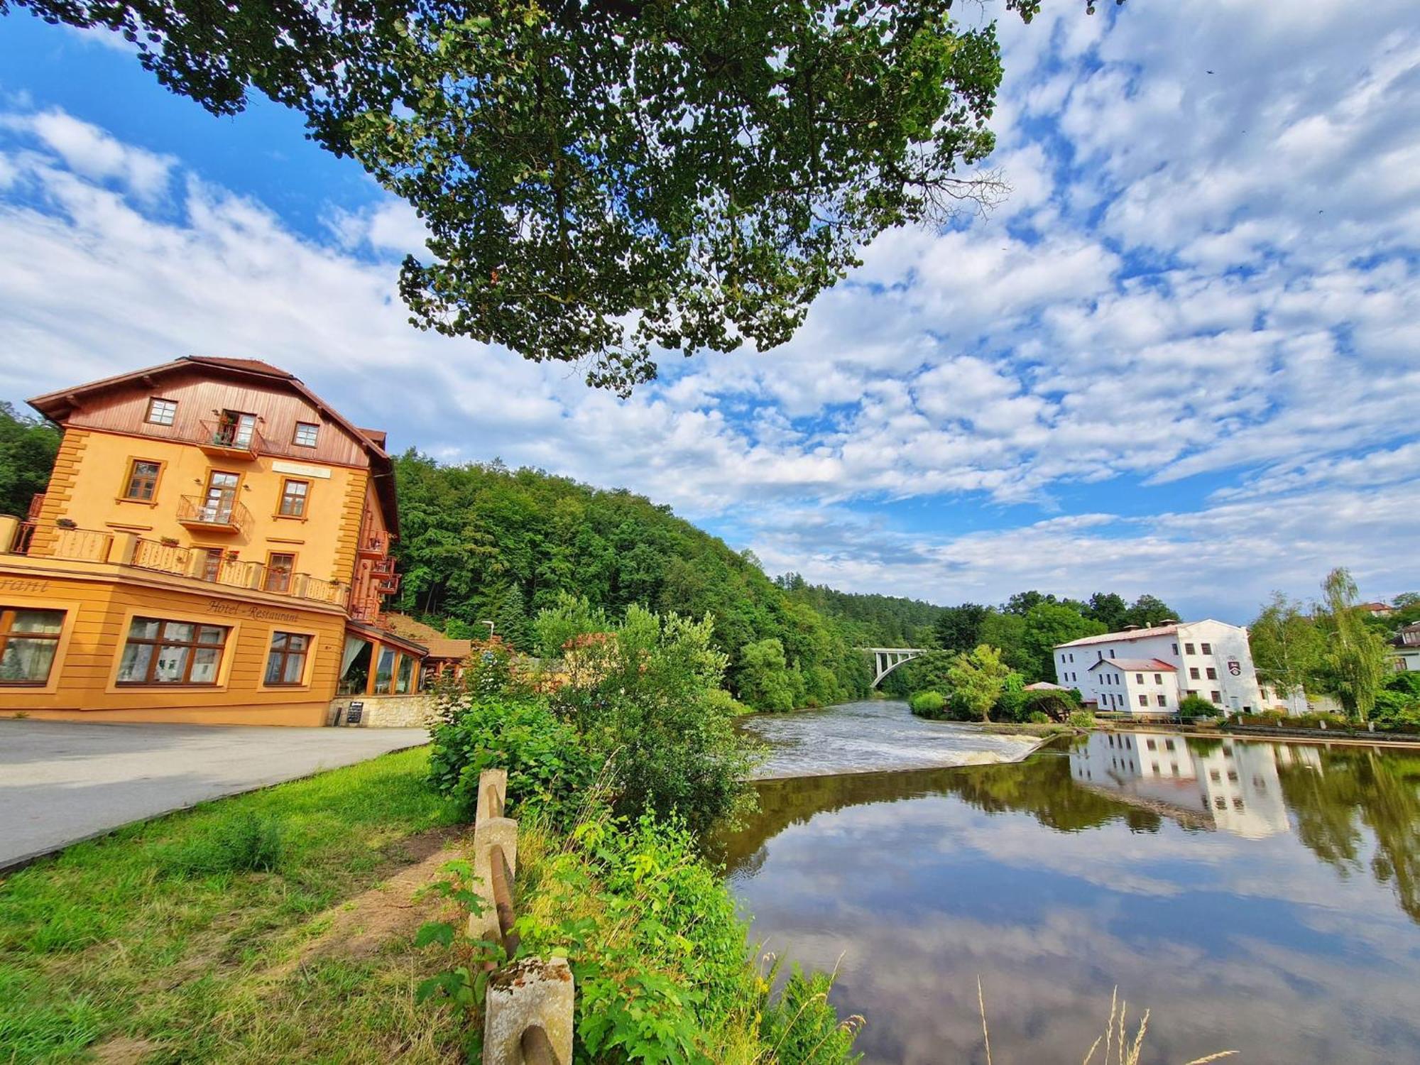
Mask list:
[[[951,0],[10,3],[122,33],[213,114],[295,108],[427,227],[416,325],[622,393],[656,348],[784,344],[879,233],[1003,192],[970,169],[995,26]]]

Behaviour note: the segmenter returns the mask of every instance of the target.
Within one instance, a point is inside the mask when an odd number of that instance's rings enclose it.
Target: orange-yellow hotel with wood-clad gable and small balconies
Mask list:
[[[64,429],[0,517],[0,716],[327,724],[419,689],[383,625],[399,535],[385,435],[290,373],[185,358],[30,400]]]

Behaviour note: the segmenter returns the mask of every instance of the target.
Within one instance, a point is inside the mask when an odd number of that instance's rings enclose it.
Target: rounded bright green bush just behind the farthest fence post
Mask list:
[[[547,701],[469,694],[436,726],[429,744],[429,782],[473,812],[479,774],[508,771],[508,811],[541,809],[567,824],[581,808],[598,761]]]

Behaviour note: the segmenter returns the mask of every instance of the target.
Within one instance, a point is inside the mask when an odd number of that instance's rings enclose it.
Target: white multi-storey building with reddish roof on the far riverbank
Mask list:
[[[1189,694],[1224,713],[1267,709],[1247,629],[1220,621],[1172,622],[1061,643],[1055,677],[1113,713],[1174,714]]]

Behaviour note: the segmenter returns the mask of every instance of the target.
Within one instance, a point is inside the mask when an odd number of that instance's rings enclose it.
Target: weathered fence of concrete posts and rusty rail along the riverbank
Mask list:
[[[469,917],[469,934],[518,949],[513,883],[518,862],[518,822],[503,816],[507,770],[479,777],[473,824],[474,890],[484,912]],[[575,987],[567,958],[521,958],[488,980],[483,1012],[483,1065],[571,1065]]]

